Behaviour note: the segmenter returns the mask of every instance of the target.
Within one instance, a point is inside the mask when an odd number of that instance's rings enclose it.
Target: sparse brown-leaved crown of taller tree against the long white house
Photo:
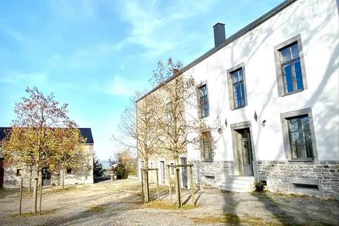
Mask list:
[[[151,81],[160,85],[157,92],[157,109],[153,119],[157,124],[157,145],[163,153],[174,159],[179,165],[179,155],[186,152],[186,145],[198,142],[198,130],[203,122],[187,114],[185,105],[196,107],[196,84],[190,76],[180,74],[182,64],[172,59],[167,64],[159,62]],[[169,80],[169,78],[171,78]]]

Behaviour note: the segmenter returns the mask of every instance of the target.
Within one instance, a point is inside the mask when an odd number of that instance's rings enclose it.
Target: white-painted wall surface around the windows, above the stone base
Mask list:
[[[198,83],[208,83],[210,116],[206,121],[218,116],[222,124],[225,118],[228,121],[221,136],[213,134],[218,138],[214,160],[233,160],[230,124],[247,120],[251,120],[257,160],[285,160],[280,113],[308,107],[313,114],[318,159],[339,160],[337,7],[335,0],[299,0],[184,73]],[[273,48],[299,34],[308,88],[278,97]],[[231,111],[226,71],[242,62],[248,105]],[[189,109],[189,114],[197,117],[196,109]],[[263,120],[265,127],[261,126]],[[189,146],[187,156],[198,160],[199,152]]]

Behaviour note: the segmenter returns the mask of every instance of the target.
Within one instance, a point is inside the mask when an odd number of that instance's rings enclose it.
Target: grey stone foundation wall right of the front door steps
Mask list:
[[[339,198],[339,161],[258,161],[258,176],[269,191],[291,193],[290,179],[319,179],[323,196]]]

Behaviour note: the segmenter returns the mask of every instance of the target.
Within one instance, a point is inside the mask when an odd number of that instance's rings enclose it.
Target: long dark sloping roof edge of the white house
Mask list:
[[[171,76],[171,77],[167,78],[164,82],[160,83],[155,88],[150,90],[148,93],[146,93],[145,95],[140,97],[138,100],[136,100],[136,102],[138,102],[139,100],[143,99],[143,97],[145,97],[147,95],[150,95],[150,93],[153,93],[155,90],[157,90],[158,88],[162,87],[162,85],[165,85],[169,81],[172,81],[172,79],[176,78],[177,76],[179,76],[180,74],[184,73],[185,71],[188,71],[192,67],[196,66],[196,64],[198,64],[201,61],[203,61],[204,59],[210,57],[210,55],[212,55],[215,52],[217,52],[218,50],[222,49],[227,44],[230,44],[234,40],[237,40],[239,37],[242,37],[242,35],[245,35],[246,32],[249,32],[250,30],[253,30],[258,25],[261,25],[261,23],[265,22],[269,18],[272,18],[273,16],[275,16],[280,11],[283,11],[283,9],[285,9],[285,8],[287,8],[287,6],[290,6],[291,4],[295,3],[295,1],[297,1],[297,0],[286,0],[286,1],[283,1],[283,3],[279,4],[278,6],[275,6],[275,8],[273,8],[270,11],[268,11],[267,13],[263,14],[263,16],[259,17],[258,19],[254,20],[252,23],[249,23],[249,25],[246,25],[244,28],[242,28],[241,30],[238,30],[233,35],[228,37],[224,42],[222,42],[220,45],[218,45],[218,47],[214,47],[213,49],[210,49],[208,52],[203,54],[201,57],[198,57],[196,60],[192,61],[187,66],[184,66],[184,68],[182,70],[180,70],[179,73],[175,73],[174,76]]]

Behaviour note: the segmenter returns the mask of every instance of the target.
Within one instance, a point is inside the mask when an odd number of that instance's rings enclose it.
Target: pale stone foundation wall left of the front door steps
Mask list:
[[[233,174],[232,161],[190,161],[193,164],[193,179],[200,187],[217,188]]]

